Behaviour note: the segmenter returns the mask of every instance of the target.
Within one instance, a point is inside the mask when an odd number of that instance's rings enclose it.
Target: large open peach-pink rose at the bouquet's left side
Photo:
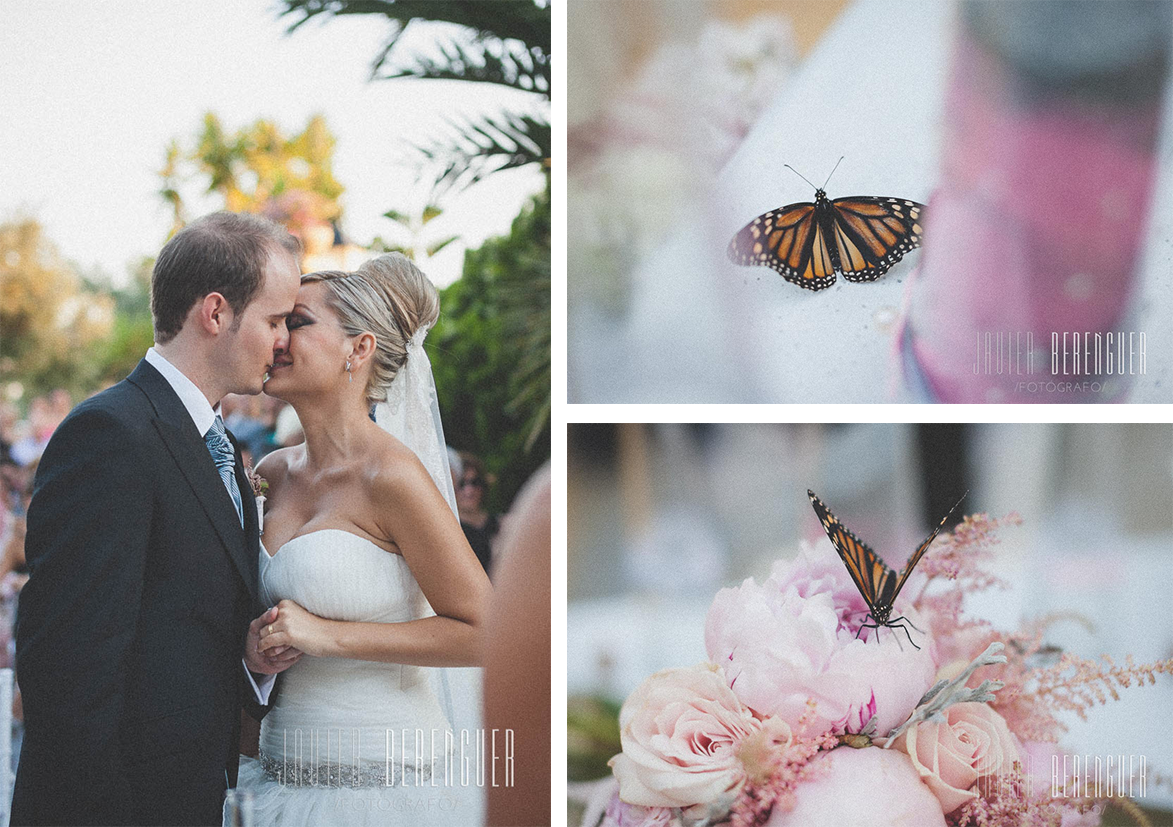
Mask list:
[[[690,807],[732,797],[745,782],[738,748],[760,730],[716,666],[657,672],[619,711],[623,752],[611,759],[619,798]]]

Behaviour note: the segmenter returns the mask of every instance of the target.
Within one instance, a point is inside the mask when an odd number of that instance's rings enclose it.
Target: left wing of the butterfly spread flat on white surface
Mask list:
[[[754,218],[733,236],[727,253],[734,264],[760,264],[791,284],[823,290],[835,283],[830,240],[815,221],[815,205],[804,202]]]

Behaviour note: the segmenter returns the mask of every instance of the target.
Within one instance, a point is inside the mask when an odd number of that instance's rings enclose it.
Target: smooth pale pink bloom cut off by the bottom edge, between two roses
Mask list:
[[[794,807],[775,807],[766,827],[944,827],[941,802],[903,753],[839,747],[811,766]]]

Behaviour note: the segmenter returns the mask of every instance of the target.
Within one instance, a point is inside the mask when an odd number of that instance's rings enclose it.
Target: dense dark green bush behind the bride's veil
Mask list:
[[[428,337],[448,443],[496,474],[504,508],[550,455],[550,189],[465,256]]]

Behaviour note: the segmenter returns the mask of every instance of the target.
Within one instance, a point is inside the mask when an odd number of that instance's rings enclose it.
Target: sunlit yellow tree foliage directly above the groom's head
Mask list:
[[[172,233],[187,223],[181,191],[194,181],[204,184],[206,192],[221,195],[226,210],[276,209],[293,231],[299,221],[337,219],[343,185],[333,174],[334,144],[320,115],[311,117],[300,133],[286,136],[265,118],[229,133],[208,113],[190,148],[171,141],[160,170],[160,195],[175,216]]]

